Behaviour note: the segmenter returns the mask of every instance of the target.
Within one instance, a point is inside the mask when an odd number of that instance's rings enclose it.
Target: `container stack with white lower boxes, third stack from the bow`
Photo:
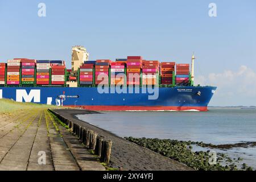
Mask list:
[[[142,61],[142,85],[158,84],[159,61]]]

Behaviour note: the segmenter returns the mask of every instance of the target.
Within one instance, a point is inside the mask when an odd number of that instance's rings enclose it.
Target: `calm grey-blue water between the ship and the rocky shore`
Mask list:
[[[120,137],[146,137],[228,144],[256,141],[256,110],[218,109],[208,112],[104,112],[78,115]],[[222,151],[240,156],[256,169],[256,148]]]

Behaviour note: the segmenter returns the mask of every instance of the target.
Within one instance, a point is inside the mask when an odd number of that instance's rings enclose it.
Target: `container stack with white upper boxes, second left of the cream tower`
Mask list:
[[[49,60],[36,60],[36,85],[49,85]]]

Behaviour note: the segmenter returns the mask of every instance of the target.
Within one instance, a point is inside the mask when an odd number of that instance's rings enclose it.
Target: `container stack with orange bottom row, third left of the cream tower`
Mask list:
[[[22,84],[34,85],[35,84],[35,60],[22,59]]]

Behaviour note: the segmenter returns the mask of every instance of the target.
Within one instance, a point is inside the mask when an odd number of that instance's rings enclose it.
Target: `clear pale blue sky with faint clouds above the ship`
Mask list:
[[[46,3],[46,17],[38,4]],[[208,15],[209,3],[217,17]],[[71,62],[142,55],[190,63],[196,82],[216,85],[210,105],[256,105],[256,1],[2,1],[0,61],[14,57]]]

